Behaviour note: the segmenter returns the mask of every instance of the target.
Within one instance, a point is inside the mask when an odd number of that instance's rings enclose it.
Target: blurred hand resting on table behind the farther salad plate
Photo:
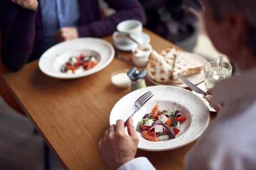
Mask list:
[[[73,40],[79,37],[76,27],[63,27],[60,28],[54,35],[58,42]]]

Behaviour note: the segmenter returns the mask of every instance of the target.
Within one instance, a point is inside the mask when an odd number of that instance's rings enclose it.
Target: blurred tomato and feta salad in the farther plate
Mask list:
[[[69,61],[61,66],[61,72],[67,74],[79,74],[83,71],[90,70],[98,64],[96,57],[86,56],[81,53],[80,56],[70,57]]]

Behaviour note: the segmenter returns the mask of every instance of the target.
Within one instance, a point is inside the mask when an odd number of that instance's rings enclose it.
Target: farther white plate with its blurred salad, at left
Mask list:
[[[99,38],[78,38],[49,48],[39,59],[40,70],[57,79],[76,79],[96,73],[114,58],[113,46]]]

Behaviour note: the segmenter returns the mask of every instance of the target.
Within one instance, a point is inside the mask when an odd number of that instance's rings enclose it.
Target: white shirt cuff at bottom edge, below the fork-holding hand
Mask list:
[[[139,157],[126,162],[118,170],[156,170],[145,157]]]

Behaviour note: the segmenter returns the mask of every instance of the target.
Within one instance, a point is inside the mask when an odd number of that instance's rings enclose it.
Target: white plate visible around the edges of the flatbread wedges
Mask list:
[[[190,53],[190,56],[193,57],[194,59],[197,59],[198,61],[200,61],[203,65],[208,62],[201,55],[198,55],[198,54],[195,54],[195,53]],[[176,86],[176,87],[180,87],[180,88],[188,88],[188,86],[185,85],[184,83],[181,83],[181,84],[175,84],[175,83],[163,84],[163,83],[155,82],[148,75],[147,75],[147,78],[154,85],[172,85],[172,86]],[[194,85],[197,85],[197,84],[199,84],[199,83],[204,81],[204,70],[202,70],[200,74],[192,74],[192,75],[186,76],[186,79],[188,79]]]

